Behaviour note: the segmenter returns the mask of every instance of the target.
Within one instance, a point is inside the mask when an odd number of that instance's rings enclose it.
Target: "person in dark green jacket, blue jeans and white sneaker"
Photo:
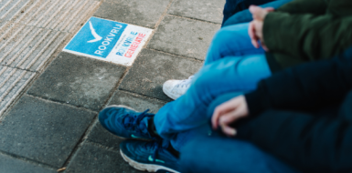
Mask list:
[[[251,25],[257,26],[256,36],[261,38],[269,52],[251,46],[251,42],[257,47],[259,45],[255,39],[250,41],[247,35],[250,24],[229,25],[214,36],[205,65],[224,57],[245,58],[260,54],[264,58],[261,61],[265,64],[263,66],[270,66],[271,72],[276,72],[285,67],[336,56],[352,45],[351,7],[351,1],[341,0],[294,0],[271,13],[272,8],[252,7],[255,20]],[[181,97],[192,83],[192,78],[166,81],[163,85],[165,95],[173,99]]]

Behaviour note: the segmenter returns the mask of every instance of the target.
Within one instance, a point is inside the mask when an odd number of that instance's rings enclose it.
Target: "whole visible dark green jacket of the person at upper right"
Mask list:
[[[265,17],[272,71],[327,59],[352,45],[352,0],[293,0]]]

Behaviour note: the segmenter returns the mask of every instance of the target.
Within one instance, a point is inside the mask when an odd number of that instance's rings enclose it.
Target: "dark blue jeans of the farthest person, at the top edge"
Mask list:
[[[250,5],[278,8],[292,0],[226,0],[222,26],[251,22]]]

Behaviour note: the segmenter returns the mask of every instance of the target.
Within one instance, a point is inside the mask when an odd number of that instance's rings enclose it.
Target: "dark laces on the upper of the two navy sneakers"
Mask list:
[[[148,114],[147,113],[148,111],[149,111],[149,109],[146,109],[141,114],[139,114],[139,115],[136,114],[133,116],[130,116],[129,114],[127,114],[125,117],[123,117],[123,122],[125,122],[126,118],[128,118],[127,123],[123,123],[123,127],[126,129],[132,129],[133,131],[138,131],[140,133],[143,133],[143,131],[139,128],[141,120],[144,117],[154,117],[153,114]]]

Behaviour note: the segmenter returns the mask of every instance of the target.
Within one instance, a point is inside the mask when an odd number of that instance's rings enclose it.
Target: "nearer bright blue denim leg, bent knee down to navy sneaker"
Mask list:
[[[208,124],[208,106],[216,97],[255,89],[268,76],[271,71],[264,55],[224,58],[203,66],[186,94],[156,113],[156,131],[179,150],[192,137],[185,135],[188,130]]]

